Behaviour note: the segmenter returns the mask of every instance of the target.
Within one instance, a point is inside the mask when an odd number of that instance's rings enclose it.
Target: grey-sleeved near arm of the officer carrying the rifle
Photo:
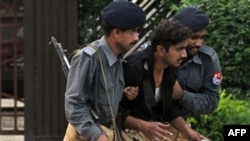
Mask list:
[[[66,118],[80,135],[95,141],[102,130],[93,121],[86,105],[94,72],[92,59],[79,52],[72,58],[65,92]]]

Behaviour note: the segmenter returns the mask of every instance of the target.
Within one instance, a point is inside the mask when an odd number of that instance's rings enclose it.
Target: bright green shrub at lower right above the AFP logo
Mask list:
[[[213,141],[223,140],[223,125],[250,123],[250,101],[239,100],[233,94],[220,92],[218,108],[209,115],[194,115],[188,118],[192,127]]]

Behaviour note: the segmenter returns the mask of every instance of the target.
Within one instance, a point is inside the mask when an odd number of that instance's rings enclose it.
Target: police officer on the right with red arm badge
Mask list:
[[[193,32],[187,58],[179,67],[173,98],[182,106],[182,115],[212,113],[219,103],[222,81],[220,62],[215,50],[203,44],[209,17],[194,7],[186,7],[173,16],[173,20],[190,28]],[[174,128],[169,130],[178,140],[185,139]]]

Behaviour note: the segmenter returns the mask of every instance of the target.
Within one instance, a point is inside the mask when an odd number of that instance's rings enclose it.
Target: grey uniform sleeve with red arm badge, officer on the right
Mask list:
[[[216,60],[210,60],[209,62],[206,61],[206,63],[204,62],[204,78],[199,90],[200,92],[193,93],[184,90],[181,103],[189,110],[198,114],[208,114],[213,112],[219,103],[220,83],[216,83],[213,80],[217,77],[215,76],[216,73],[221,73],[218,58]]]

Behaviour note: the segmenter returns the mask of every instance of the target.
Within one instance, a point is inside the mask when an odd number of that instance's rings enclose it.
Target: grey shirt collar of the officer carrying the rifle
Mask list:
[[[109,66],[113,66],[118,60],[122,59],[122,56],[119,58],[116,57],[116,55],[113,53],[113,51],[109,47],[104,36],[100,39],[100,44],[101,44],[101,47],[102,47],[102,50],[103,50],[105,56],[107,57]]]

